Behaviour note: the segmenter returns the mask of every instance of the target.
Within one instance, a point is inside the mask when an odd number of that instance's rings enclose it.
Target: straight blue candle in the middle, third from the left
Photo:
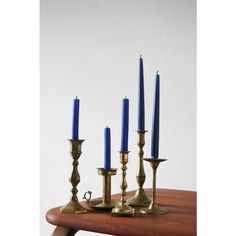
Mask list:
[[[121,130],[121,151],[128,151],[128,133],[129,133],[129,99],[122,101],[122,130]]]

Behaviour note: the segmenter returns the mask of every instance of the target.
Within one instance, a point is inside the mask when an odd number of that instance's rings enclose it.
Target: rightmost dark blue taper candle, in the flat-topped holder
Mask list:
[[[152,117],[151,156],[154,159],[159,155],[159,107],[160,107],[160,76],[158,72],[155,78],[154,107]]]

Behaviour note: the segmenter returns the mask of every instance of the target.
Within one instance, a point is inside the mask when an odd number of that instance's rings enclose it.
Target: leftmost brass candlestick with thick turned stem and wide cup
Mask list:
[[[80,175],[78,171],[78,160],[81,155],[81,146],[84,140],[79,139],[79,140],[73,140],[69,139],[70,143],[70,155],[72,157],[72,165],[73,165],[73,170],[71,173],[70,177],[70,182],[72,184],[72,189],[71,189],[71,199],[70,201],[65,205],[60,208],[61,213],[86,213],[87,210],[84,209],[78,202],[77,198],[77,185],[80,182]]]

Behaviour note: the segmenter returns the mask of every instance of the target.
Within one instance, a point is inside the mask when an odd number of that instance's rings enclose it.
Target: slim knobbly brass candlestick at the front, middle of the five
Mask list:
[[[126,164],[128,163],[128,154],[129,152],[120,152],[120,163],[121,163],[121,171],[122,171],[122,180],[120,184],[121,188],[121,200],[119,205],[112,209],[111,215],[112,216],[133,216],[135,209],[128,206],[126,204],[125,196],[126,196],[126,188],[127,188],[127,181],[126,181]]]

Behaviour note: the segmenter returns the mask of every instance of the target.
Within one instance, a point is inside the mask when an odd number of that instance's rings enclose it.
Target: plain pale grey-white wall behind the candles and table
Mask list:
[[[196,6],[193,0],[41,0],[41,235],[46,211],[68,201],[72,99],[81,100],[78,196],[102,192],[103,129],[111,127],[112,166],[119,168],[121,99],[130,99],[128,190],[135,180],[138,58],[144,58],[146,128],[153,78],[161,74],[158,187],[196,190]],[[145,156],[150,155],[150,132]],[[151,186],[151,169],[144,187]],[[120,191],[120,171],[112,192]],[[90,233],[80,233],[88,235]]]

